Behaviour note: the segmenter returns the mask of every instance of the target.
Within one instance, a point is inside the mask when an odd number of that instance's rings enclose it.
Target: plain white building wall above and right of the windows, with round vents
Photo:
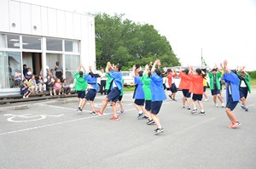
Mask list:
[[[95,66],[95,22],[91,15],[1,0],[0,19],[2,32],[80,40],[81,62]]]

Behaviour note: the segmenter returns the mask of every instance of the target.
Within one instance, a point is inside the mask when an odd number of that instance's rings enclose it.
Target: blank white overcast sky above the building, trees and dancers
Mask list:
[[[228,59],[231,68],[256,70],[256,0],[20,0],[79,13],[125,14],[154,25],[183,65],[210,67]],[[253,64],[254,63],[254,64]]]

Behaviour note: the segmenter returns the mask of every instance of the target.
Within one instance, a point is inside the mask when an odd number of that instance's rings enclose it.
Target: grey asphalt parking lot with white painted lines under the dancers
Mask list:
[[[109,104],[104,115],[90,114],[88,103],[78,115],[75,97],[1,104],[0,168],[256,168],[256,94],[248,94],[248,111],[236,106],[241,126],[230,129],[224,108],[207,93],[206,115],[183,108],[180,91],[177,102],[167,97],[158,135],[155,125],[137,120],[131,92],[119,121],[109,120]],[[104,97],[96,96],[97,110]]]

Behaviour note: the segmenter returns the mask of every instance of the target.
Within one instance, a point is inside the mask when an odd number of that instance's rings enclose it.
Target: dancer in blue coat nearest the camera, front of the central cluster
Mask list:
[[[163,100],[166,99],[166,93],[163,87],[163,77],[161,76],[160,69],[155,68],[156,65],[160,67],[160,59],[155,60],[150,76],[150,89],[152,93],[151,116],[157,126],[157,128],[154,130],[154,134],[164,131],[164,128],[160,124],[158,113],[160,112]]]

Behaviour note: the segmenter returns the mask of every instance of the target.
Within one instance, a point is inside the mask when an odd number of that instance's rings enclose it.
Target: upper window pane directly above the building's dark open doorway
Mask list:
[[[41,37],[22,36],[22,47],[25,49],[41,50]]]

